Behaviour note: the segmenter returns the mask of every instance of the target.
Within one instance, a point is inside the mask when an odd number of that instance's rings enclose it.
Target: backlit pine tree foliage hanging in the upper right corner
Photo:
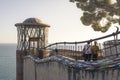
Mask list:
[[[83,11],[80,21],[94,31],[106,32],[112,24],[120,25],[120,0],[70,0]],[[101,21],[106,19],[103,26]]]

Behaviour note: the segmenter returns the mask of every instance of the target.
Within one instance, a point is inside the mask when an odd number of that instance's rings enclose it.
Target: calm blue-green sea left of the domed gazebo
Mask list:
[[[0,80],[16,80],[16,44],[0,44]]]

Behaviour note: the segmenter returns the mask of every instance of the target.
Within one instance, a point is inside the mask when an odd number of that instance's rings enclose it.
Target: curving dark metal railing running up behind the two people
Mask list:
[[[119,40],[118,32],[113,32],[112,34],[102,36],[95,39],[89,39],[86,41],[81,42],[58,42],[53,43],[45,47],[49,53],[49,55],[62,55],[66,57],[71,57],[74,59],[83,59],[82,51],[83,46],[90,41],[91,46],[93,45],[94,41],[98,42],[100,51],[98,53],[98,58],[115,58],[119,57],[120,55],[120,40]]]

